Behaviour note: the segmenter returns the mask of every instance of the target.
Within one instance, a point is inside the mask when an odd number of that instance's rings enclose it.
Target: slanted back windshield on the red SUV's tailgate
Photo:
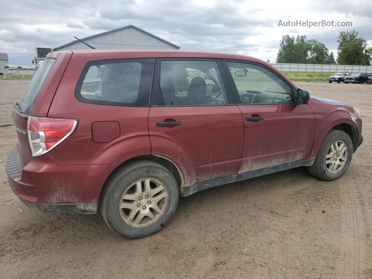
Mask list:
[[[47,80],[47,77],[49,76],[56,61],[57,60],[55,59],[45,59],[40,68],[36,71],[35,76],[33,76],[31,83],[19,102],[22,112],[26,115],[29,115],[31,112],[36,98],[38,97],[45,80]]]

